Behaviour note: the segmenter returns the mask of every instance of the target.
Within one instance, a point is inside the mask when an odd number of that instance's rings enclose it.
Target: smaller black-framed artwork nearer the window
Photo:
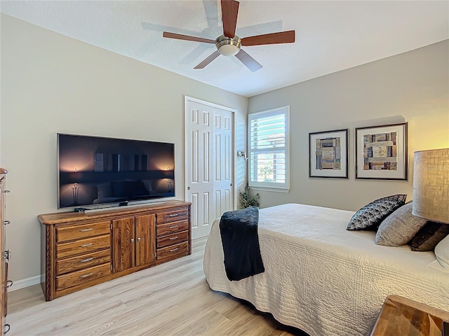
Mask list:
[[[309,177],[348,179],[348,132],[309,133]]]

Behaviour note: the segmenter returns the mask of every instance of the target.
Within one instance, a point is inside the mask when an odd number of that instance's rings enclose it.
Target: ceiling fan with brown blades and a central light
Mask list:
[[[253,57],[241,49],[243,46],[249,45],[264,45],[264,44],[276,44],[276,43],[293,43],[295,42],[295,31],[280,31],[278,33],[263,34],[256,36],[249,36],[240,38],[236,36],[236,24],[237,15],[239,14],[239,1],[235,0],[221,0],[222,5],[222,21],[223,21],[223,35],[218,36],[215,40],[209,38],[202,38],[196,36],[182,35],[170,33],[164,31],[162,36],[167,38],[176,38],[178,40],[187,40],[203,43],[213,43],[217,47],[217,50],[210,56],[206,57],[200,64],[194,67],[194,69],[203,69],[210,62],[220,55],[223,56],[235,56],[243,64],[246,65],[250,71],[257,71],[262,68]]]

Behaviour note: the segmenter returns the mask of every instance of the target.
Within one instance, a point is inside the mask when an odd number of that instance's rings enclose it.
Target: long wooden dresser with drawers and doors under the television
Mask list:
[[[190,205],[40,215],[46,300],[191,254]]]

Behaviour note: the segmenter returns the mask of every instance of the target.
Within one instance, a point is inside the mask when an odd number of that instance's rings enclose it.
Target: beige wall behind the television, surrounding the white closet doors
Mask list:
[[[1,164],[9,171],[7,246],[14,281],[39,276],[39,214],[57,211],[56,132],[175,143],[184,189],[184,96],[230,106],[236,147],[248,99],[1,15]],[[237,161],[237,186],[245,165]]]

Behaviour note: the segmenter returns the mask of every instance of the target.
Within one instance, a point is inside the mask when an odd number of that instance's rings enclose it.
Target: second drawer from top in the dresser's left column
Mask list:
[[[111,235],[56,244],[56,258],[60,259],[81,253],[90,253],[104,248],[111,248]]]

